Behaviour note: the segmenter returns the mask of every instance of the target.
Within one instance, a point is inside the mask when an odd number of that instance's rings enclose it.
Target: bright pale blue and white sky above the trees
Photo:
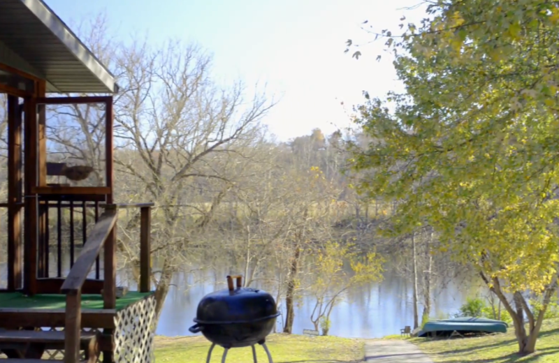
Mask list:
[[[320,128],[330,134],[349,125],[352,106],[363,91],[382,96],[401,89],[382,41],[361,29],[399,33],[402,15],[417,21],[420,0],[45,0],[67,24],[101,12],[110,34],[149,43],[168,38],[196,42],[214,57],[220,82],[242,80],[248,92],[266,86],[278,101],[263,122],[286,141]],[[344,54],[347,39],[368,43],[363,57]],[[381,61],[376,57],[383,54]],[[342,105],[341,103],[344,103]]]

